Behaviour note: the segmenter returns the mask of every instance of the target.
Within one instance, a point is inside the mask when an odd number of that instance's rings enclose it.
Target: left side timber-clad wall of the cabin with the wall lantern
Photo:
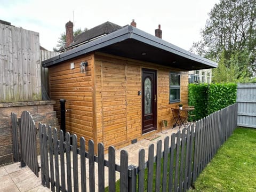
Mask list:
[[[59,99],[66,99],[66,131],[84,137],[86,141],[93,139],[93,95],[92,64],[93,54],[67,61],[49,68],[50,97],[55,100],[54,110],[60,119]],[[88,62],[86,74],[80,73],[80,63]],[[70,69],[74,62],[75,68]]]

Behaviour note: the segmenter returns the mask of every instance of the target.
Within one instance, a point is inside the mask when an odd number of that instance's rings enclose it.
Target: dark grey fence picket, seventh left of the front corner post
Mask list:
[[[71,180],[71,156],[70,156],[70,134],[69,132],[66,132],[65,135],[65,141],[66,141],[66,163],[67,163],[67,186],[68,186],[68,192],[72,191],[72,180]]]

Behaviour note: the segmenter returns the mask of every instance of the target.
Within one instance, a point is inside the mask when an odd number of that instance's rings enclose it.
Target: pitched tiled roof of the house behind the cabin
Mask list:
[[[81,44],[85,41],[89,41],[90,39],[93,39],[95,37],[99,37],[101,35],[109,34],[117,29],[120,29],[121,26],[116,25],[115,23],[112,22],[105,22],[102,23],[101,25],[98,25],[96,27],[93,27],[84,33],[81,33],[77,36],[74,37],[74,42],[70,44],[70,46],[74,46],[77,44]]]

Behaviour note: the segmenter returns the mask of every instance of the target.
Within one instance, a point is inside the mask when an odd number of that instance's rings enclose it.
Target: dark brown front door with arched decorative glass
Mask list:
[[[157,129],[157,71],[142,69],[142,134]]]

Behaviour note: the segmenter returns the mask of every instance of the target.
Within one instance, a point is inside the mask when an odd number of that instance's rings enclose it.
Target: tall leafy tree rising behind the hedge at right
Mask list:
[[[256,72],[256,0],[221,0],[209,16],[201,41],[191,51],[219,62],[215,72],[250,78]]]

